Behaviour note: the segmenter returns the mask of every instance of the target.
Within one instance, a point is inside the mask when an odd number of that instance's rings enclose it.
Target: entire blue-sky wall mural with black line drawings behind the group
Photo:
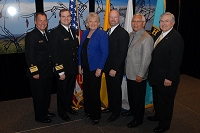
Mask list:
[[[48,30],[58,25],[59,11],[69,9],[70,0],[44,0],[44,12],[48,16]],[[146,29],[150,30],[157,0],[136,0],[136,12],[145,15]],[[106,0],[95,0],[95,12],[101,18]],[[110,0],[111,9],[120,12],[120,24],[124,25],[128,0]],[[77,0],[79,28],[85,30],[85,18],[89,13],[89,0]],[[0,0],[0,54],[24,52],[24,37],[34,28],[35,0]]]

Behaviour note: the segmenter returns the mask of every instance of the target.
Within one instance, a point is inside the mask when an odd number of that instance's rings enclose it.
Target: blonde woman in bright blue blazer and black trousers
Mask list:
[[[101,118],[101,76],[108,57],[108,35],[100,30],[100,17],[91,12],[86,18],[86,30],[82,34],[78,50],[79,73],[83,74],[83,95],[85,117],[92,124],[98,124]]]

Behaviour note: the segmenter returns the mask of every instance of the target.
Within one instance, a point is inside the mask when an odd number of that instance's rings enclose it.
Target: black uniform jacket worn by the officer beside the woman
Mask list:
[[[52,60],[55,73],[78,74],[78,46],[79,41],[75,29],[71,28],[71,34],[62,26],[58,25],[50,32],[49,43],[51,46]]]

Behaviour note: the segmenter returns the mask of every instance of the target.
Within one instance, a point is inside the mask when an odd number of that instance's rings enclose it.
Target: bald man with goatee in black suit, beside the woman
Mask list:
[[[103,113],[112,112],[108,122],[115,121],[121,113],[121,84],[124,75],[124,64],[129,44],[129,34],[119,24],[120,14],[117,10],[110,11],[109,23],[109,55],[104,72],[106,77],[109,107]]]

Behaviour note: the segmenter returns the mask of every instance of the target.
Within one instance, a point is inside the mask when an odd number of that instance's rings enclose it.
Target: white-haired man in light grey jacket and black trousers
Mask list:
[[[145,17],[133,15],[130,42],[126,58],[126,77],[130,111],[133,120],[127,124],[129,128],[143,123],[145,112],[146,79],[153,51],[153,38],[145,31]]]

